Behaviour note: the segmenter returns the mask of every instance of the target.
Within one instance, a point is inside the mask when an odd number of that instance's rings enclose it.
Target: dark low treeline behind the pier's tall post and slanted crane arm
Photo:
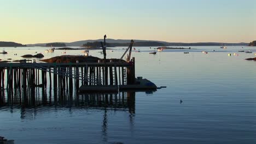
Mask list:
[[[106,46],[108,47],[114,47],[114,46],[129,46],[130,43],[106,43]],[[165,44],[149,41],[149,42],[135,42],[133,43],[133,46],[165,46]],[[100,41],[95,41],[93,43],[86,43],[83,44],[83,47],[101,47]]]

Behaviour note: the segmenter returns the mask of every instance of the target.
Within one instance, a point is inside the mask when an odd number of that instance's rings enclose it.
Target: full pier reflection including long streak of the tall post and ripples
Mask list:
[[[100,110],[103,111],[101,117],[101,138],[102,142],[108,142],[108,115],[109,111],[127,111],[130,127],[133,127],[133,117],[135,116],[135,92],[120,92],[117,94],[85,93],[79,94],[73,91],[61,91],[54,89],[46,91],[42,88],[14,89],[13,91],[1,91],[0,110],[20,110],[21,121],[34,121],[40,113],[61,113],[69,111]],[[60,111],[60,112],[58,112]],[[78,114],[78,113],[77,113]],[[53,117],[51,117],[53,118]],[[80,119],[79,121],[81,121]],[[38,127],[38,125],[37,125]],[[45,125],[41,130],[63,130],[65,127],[50,127]],[[132,128],[131,128],[132,129]],[[5,129],[8,130],[8,129]],[[10,129],[9,129],[10,130]],[[18,131],[37,131],[37,128],[21,128]],[[59,132],[60,133],[60,132]],[[46,135],[46,134],[44,134]],[[34,137],[34,139],[38,139]],[[15,140],[16,141],[16,140]],[[19,140],[18,140],[19,141]],[[121,142],[119,142],[121,143]]]

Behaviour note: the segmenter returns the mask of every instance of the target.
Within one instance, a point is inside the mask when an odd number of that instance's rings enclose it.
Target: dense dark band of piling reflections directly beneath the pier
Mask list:
[[[20,107],[22,113],[35,107],[69,107],[77,109],[123,110],[135,113],[135,92],[119,92],[117,94],[83,93],[54,89],[30,88],[26,91],[14,89],[0,93],[1,107]],[[44,109],[47,110],[47,109]],[[23,116],[21,116],[23,117]]]

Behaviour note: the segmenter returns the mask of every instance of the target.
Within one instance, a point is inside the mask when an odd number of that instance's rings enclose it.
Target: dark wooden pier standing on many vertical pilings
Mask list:
[[[1,89],[49,87],[79,89],[80,86],[119,86],[135,83],[135,58],[129,62],[0,63]],[[100,87],[99,87],[100,88]]]

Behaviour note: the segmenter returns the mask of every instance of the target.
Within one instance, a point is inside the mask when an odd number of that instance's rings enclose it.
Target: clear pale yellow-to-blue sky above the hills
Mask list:
[[[255,0],[0,0],[0,41],[256,40]]]

